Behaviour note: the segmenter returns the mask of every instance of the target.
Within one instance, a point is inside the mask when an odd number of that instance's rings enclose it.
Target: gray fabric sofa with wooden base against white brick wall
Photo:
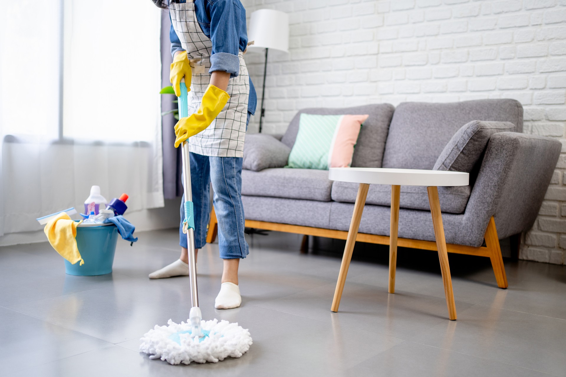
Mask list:
[[[256,160],[256,165],[260,159],[260,165],[263,161],[266,166],[280,166],[242,171],[247,226],[311,235],[323,234],[320,230],[309,230],[315,228],[348,231],[357,184],[328,180],[328,171],[284,168],[281,157],[280,161],[271,161],[269,157],[269,151],[277,150],[281,154],[281,150],[292,148],[303,112],[370,115],[355,146],[353,167],[432,169],[462,125],[473,120],[511,122],[516,132],[498,132],[488,139],[470,172],[469,186],[439,187],[446,241],[454,246],[448,248],[449,252],[468,250],[466,254],[491,256],[473,250],[482,247],[492,216],[499,239],[528,231],[537,218],[561,149],[557,140],[521,133],[523,109],[513,99],[408,102],[397,108],[378,104],[346,109],[304,109],[291,120],[280,140],[267,135],[246,138],[245,166],[250,166],[251,159]],[[269,145],[268,148],[261,151],[258,146],[261,143]],[[255,169],[258,170],[257,166]],[[389,235],[390,200],[391,187],[370,186],[359,232]],[[400,238],[435,240],[426,187],[402,186],[400,207]],[[328,234],[332,237],[332,233]],[[344,233],[336,234],[340,235],[337,238],[344,238]],[[358,239],[361,238],[358,236]],[[383,241],[383,237],[376,240]],[[422,245],[434,249],[431,244]],[[455,245],[464,245],[464,249]]]

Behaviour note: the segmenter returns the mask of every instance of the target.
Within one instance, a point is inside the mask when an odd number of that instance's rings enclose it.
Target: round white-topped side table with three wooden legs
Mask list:
[[[391,228],[389,231],[389,293],[395,293],[395,269],[397,264],[397,232],[399,226],[399,196],[401,185],[426,186],[428,192],[428,203],[434,224],[434,235],[436,248],[440,259],[440,270],[444,283],[444,293],[448,306],[448,317],[456,319],[456,304],[454,304],[454,293],[452,292],[452,278],[450,266],[448,265],[448,252],[446,240],[444,239],[444,227],[440,202],[438,200],[438,186],[467,186],[469,184],[468,173],[457,171],[439,170],[415,170],[415,169],[389,169],[369,167],[333,167],[328,172],[328,179],[333,181],[344,181],[358,183],[358,194],[355,198],[354,213],[350,222],[344,257],[340,266],[340,274],[336,283],[336,291],[332,300],[332,311],[338,311],[348,267],[354,250],[355,239],[358,236],[359,223],[362,219],[363,206],[366,204],[367,190],[370,184],[391,185]]]

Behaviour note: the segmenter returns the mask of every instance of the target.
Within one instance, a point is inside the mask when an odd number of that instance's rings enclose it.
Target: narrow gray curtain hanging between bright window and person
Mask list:
[[[173,62],[171,58],[171,42],[169,41],[169,28],[171,20],[169,12],[161,13],[161,86],[171,85],[169,81],[169,66]],[[173,103],[173,94],[162,94],[161,111],[173,110],[177,103]],[[181,149],[174,148],[175,123],[177,120],[173,114],[163,117],[161,140],[163,142],[163,194],[165,199],[174,199],[183,195],[181,183]]]

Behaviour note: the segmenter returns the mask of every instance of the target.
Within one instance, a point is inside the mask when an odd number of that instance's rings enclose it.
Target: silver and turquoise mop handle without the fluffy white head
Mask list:
[[[179,119],[188,116],[188,93],[185,79],[181,80],[180,86],[181,96],[178,98]],[[187,227],[188,268],[191,278],[191,304],[192,307],[195,307],[199,306],[199,293],[196,285],[195,220],[192,212],[191,160],[188,152],[188,140],[185,140],[183,141],[181,150],[183,161],[183,193],[185,194],[185,223]],[[183,224],[183,228],[185,228],[185,224]]]

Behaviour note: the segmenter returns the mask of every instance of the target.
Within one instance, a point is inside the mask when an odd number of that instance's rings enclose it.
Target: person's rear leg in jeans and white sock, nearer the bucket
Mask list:
[[[191,188],[193,213],[195,215],[195,258],[198,249],[206,244],[207,226],[210,218],[210,164],[207,156],[190,153]],[[184,184],[184,181],[183,181]],[[177,261],[149,274],[150,279],[171,278],[172,276],[188,276],[187,235],[183,233],[185,220],[185,197],[181,201],[181,223],[179,224],[179,245],[181,256]]]

